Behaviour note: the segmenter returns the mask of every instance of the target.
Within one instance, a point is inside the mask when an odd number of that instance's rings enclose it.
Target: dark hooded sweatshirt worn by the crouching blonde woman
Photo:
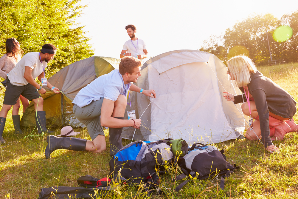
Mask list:
[[[271,79],[264,77],[257,71],[250,74],[251,80],[247,85],[252,94],[260,118],[262,142],[264,147],[272,145],[269,129],[269,112],[283,118],[293,118],[296,113],[296,101],[282,87],[275,84]],[[243,87],[239,89],[244,93]],[[234,104],[246,102],[245,94],[236,95]],[[244,101],[243,101],[244,100]]]

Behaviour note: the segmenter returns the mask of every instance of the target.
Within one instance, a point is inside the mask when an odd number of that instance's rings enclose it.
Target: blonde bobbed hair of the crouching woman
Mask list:
[[[257,72],[257,68],[252,60],[245,55],[238,55],[227,61],[230,75],[235,77],[235,83],[238,87],[249,84],[250,74]]]

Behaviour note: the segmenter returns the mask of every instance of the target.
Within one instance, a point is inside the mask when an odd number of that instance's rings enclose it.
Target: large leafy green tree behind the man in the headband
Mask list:
[[[5,41],[15,37],[24,53],[39,52],[46,43],[57,47],[57,54],[45,71],[47,77],[61,68],[91,57],[94,53],[84,36],[84,26],[75,20],[85,6],[80,0],[0,0],[0,53]]]

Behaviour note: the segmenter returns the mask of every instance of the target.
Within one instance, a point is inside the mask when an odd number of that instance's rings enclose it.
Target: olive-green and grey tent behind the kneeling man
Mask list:
[[[55,94],[48,87],[41,95],[44,98],[47,127],[73,126],[84,127],[72,112],[72,101],[77,93],[97,77],[107,74],[119,67],[120,60],[109,57],[90,57],[64,67],[48,81],[62,91]],[[31,102],[21,119],[22,127],[35,127],[34,103]]]

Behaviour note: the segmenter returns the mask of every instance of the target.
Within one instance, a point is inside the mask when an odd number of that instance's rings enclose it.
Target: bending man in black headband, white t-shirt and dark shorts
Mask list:
[[[42,85],[46,85],[55,93],[60,92],[58,88],[53,87],[44,78],[44,69],[47,63],[54,58],[56,51],[57,49],[54,45],[44,44],[40,53],[27,53],[16,64],[13,70],[7,74],[7,88],[4,95],[3,107],[0,111],[0,142],[4,142],[2,133],[4,131],[7,112],[16,103],[20,95],[34,102],[38,133],[47,131],[46,113],[43,109],[44,100],[37,92],[38,90],[41,94],[45,94],[46,90],[35,81],[35,78],[38,77]]]

